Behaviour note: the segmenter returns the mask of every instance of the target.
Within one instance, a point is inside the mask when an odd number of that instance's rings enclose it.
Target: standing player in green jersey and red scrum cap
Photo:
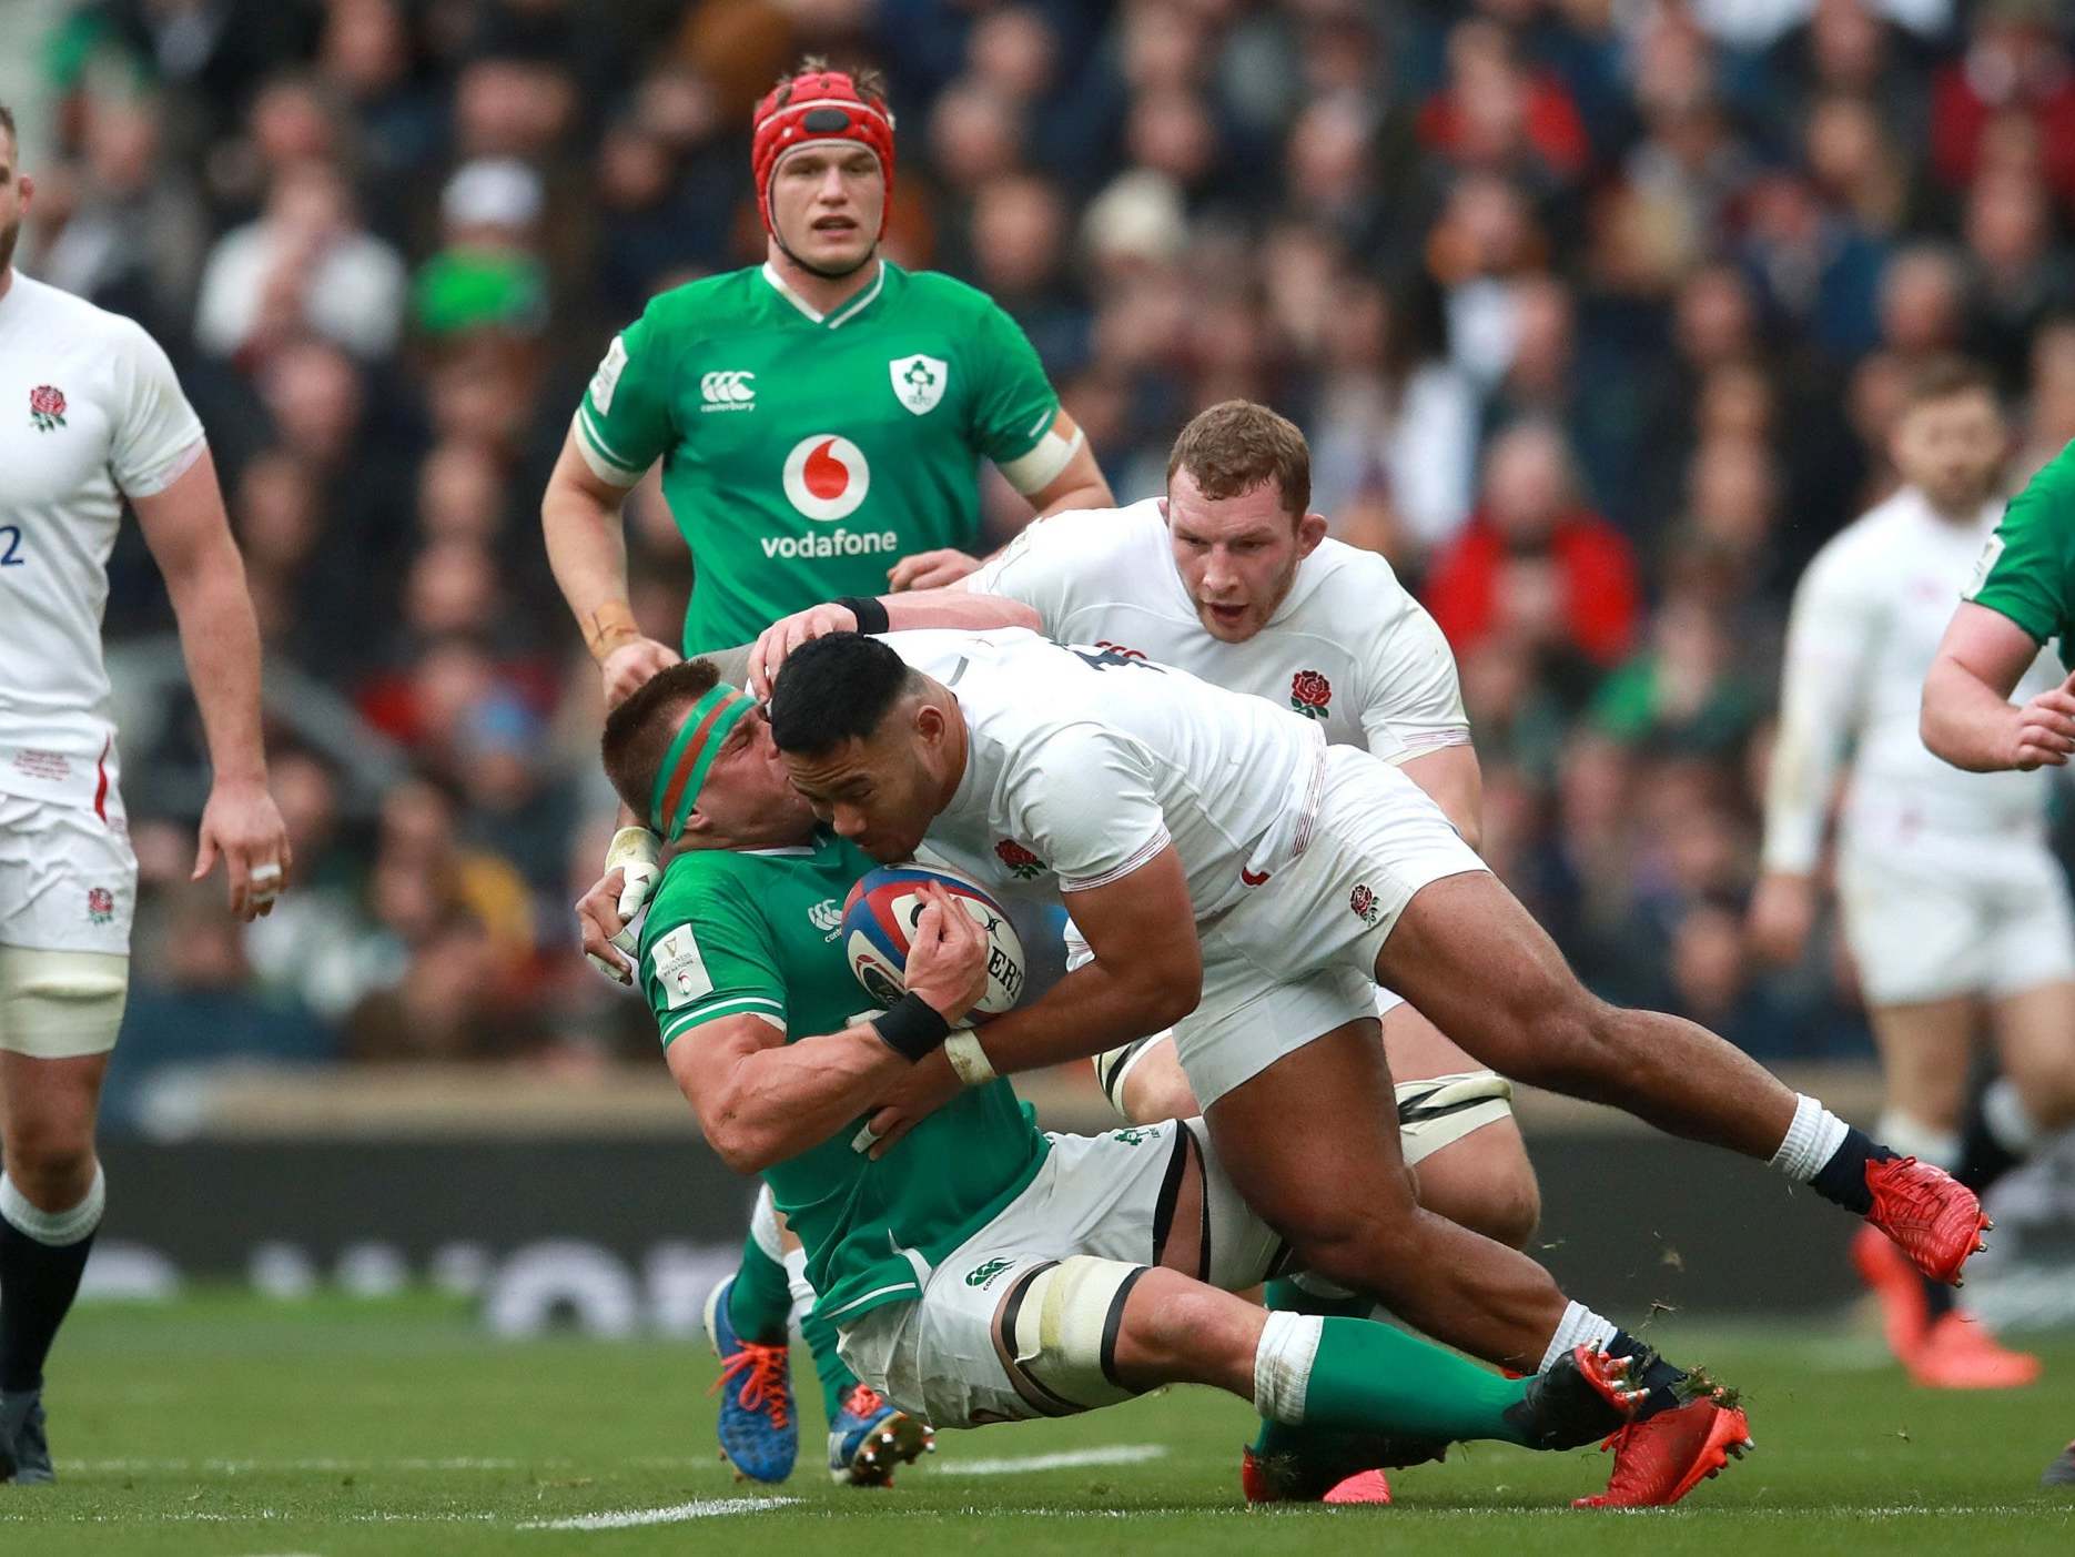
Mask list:
[[[832,596],[957,577],[979,536],[981,459],[1038,513],[1112,502],[1017,324],[963,282],[880,257],[894,125],[869,73],[801,62],[757,104],[751,166],[766,262],[662,293],[612,338],[542,498],[548,558],[608,704],[679,660],[627,600],[620,502],[658,461],[697,571],[685,654],[749,641]],[[622,828],[608,853],[622,922],[654,878],[654,847]],[[716,1347],[735,1366],[722,1445],[743,1474],[782,1480],[797,1447],[793,1293],[766,1244],[768,1217],[718,1314],[732,1335]],[[822,1327],[807,1339],[840,1468],[884,1408],[857,1395]]]

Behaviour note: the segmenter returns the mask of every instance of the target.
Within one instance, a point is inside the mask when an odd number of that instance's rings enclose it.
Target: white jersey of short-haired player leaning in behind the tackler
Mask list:
[[[1062,644],[1110,644],[1251,691],[1386,762],[1469,741],[1448,639],[1390,563],[1336,540],[1245,644],[1212,637],[1189,602],[1160,498],[1027,525],[969,590],[1021,600]]]

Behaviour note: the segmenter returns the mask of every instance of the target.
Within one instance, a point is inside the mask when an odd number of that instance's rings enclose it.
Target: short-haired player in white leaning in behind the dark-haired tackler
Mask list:
[[[1004,606],[994,625],[1027,625],[1035,612],[1052,639],[1116,648],[1286,704],[1330,743],[1361,745],[1413,778],[1475,847],[1482,783],[1455,658],[1382,556],[1326,538],[1324,515],[1309,513],[1303,432],[1264,405],[1226,401],[1183,428],[1174,455],[1168,498],[1054,515],[948,592],[911,592],[882,606],[911,625],[986,627],[963,596],[992,596]],[[1216,496],[1191,467],[1204,469]],[[857,625],[842,604],[776,623],[751,650],[751,685],[768,693],[793,648]],[[1419,1204],[1523,1248],[1540,1194],[1511,1084],[1388,990],[1378,990],[1378,1015]],[[1199,1113],[1172,1034],[1100,1055],[1096,1069],[1131,1123]],[[1305,1291],[1305,1281],[1272,1283],[1270,1306],[1367,1310],[1365,1298],[1349,1304]],[[1249,1451],[1249,1484],[1257,1482],[1253,1462]],[[1367,1478],[1367,1488],[1384,1493],[1380,1478]],[[1355,1484],[1334,1501],[1359,1495]]]

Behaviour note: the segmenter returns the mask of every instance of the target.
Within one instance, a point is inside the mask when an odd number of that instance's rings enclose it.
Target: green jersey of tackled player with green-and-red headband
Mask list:
[[[840,945],[842,899],[872,859],[818,828],[797,849],[693,849],[664,870],[641,928],[641,984],[662,1042],[757,1015],[786,1040],[842,1032],[867,1005]],[[874,1163],[863,1115],[764,1173],[807,1246],[828,1320],[921,1295],[930,1266],[1029,1185],[1050,1142],[1004,1080],[967,1088]]]

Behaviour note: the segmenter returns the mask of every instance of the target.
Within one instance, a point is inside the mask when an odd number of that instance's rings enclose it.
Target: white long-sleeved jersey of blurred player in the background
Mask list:
[[[1766,868],[1809,872],[1847,745],[1851,785],[1841,841],[1907,843],[1924,830],[2042,837],[2046,774],[1963,772],[1924,749],[1917,710],[1953,608],[2002,502],[1969,523],[1940,519],[1903,488],[1816,552],[1795,588],[1780,683],[1780,733],[1766,789]],[[2060,677],[2050,656],[2013,693],[2025,702]]]

